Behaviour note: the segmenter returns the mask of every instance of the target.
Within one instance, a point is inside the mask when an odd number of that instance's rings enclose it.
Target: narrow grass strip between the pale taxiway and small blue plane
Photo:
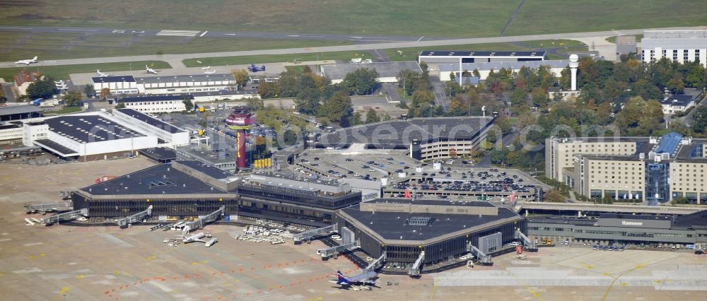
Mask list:
[[[350,61],[354,57],[361,59],[375,59],[368,52],[315,52],[301,54],[279,54],[279,55],[252,55],[245,57],[204,57],[197,59],[185,59],[182,63],[187,67],[198,67],[203,65],[208,66],[228,66],[228,65],[243,65],[243,64],[265,64],[279,63],[281,61],[317,61],[317,60],[344,60]],[[201,64],[197,63],[201,61]]]

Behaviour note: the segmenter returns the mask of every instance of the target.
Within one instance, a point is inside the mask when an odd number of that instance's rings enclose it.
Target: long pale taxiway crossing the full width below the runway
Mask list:
[[[668,28],[659,28],[668,29]],[[670,28],[674,29],[674,28]],[[678,28],[678,29],[699,29],[699,28]],[[182,59],[194,59],[201,57],[241,57],[250,55],[272,55],[272,54],[300,54],[300,53],[317,53],[317,52],[338,52],[338,51],[364,51],[371,49],[395,49],[404,47],[431,47],[444,45],[466,45],[479,43],[495,43],[495,42],[518,42],[532,40],[553,40],[553,39],[578,39],[582,37],[609,37],[614,35],[638,35],[642,34],[643,29],[634,30],[607,30],[595,31],[586,33],[557,33],[549,35],[520,35],[512,37],[475,37],[467,39],[452,39],[452,40],[419,40],[414,42],[382,42],[369,43],[358,45],[341,45],[327,47],[305,47],[305,48],[288,48],[288,49],[263,49],[249,50],[236,52],[211,52],[211,53],[194,53],[194,54],[163,54],[163,55],[139,55],[132,57],[95,57],[87,59],[59,59],[40,61],[33,66],[60,66],[74,64],[100,64],[123,61],[168,61],[173,64],[173,67],[184,67],[181,63]],[[11,68],[24,65],[14,64],[13,61],[0,63],[0,68]]]

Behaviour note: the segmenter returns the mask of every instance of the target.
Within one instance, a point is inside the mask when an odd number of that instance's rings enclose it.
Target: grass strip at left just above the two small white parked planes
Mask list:
[[[129,71],[129,70],[140,70],[143,69],[145,65],[154,64],[154,69],[171,69],[172,66],[165,61],[133,61],[132,63],[105,63],[105,64],[81,64],[81,65],[67,65],[67,66],[28,66],[19,68],[3,68],[0,69],[0,78],[4,78],[5,81],[13,81],[13,75],[22,71],[22,69],[28,69],[31,71],[39,71],[41,74],[50,76],[54,79],[69,79],[69,74],[71,73],[91,73],[95,72],[96,69],[100,69],[102,72],[113,72],[113,71]]]

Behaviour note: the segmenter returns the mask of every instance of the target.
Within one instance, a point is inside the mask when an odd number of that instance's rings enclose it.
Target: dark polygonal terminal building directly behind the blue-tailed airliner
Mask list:
[[[337,228],[361,242],[366,254],[411,264],[424,252],[423,264],[468,252],[468,244],[494,252],[525,232],[525,218],[508,208],[481,201],[377,199],[341,209]],[[347,234],[348,233],[348,234]]]

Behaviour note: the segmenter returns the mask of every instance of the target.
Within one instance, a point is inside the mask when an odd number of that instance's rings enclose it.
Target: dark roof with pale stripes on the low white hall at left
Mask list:
[[[100,142],[143,136],[122,124],[98,115],[61,116],[46,119],[49,131],[79,143]]]

